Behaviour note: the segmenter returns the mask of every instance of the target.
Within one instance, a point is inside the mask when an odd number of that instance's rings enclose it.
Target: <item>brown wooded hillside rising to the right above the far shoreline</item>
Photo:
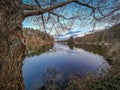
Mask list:
[[[105,30],[100,30],[83,37],[77,37],[77,42],[120,42],[120,23]]]

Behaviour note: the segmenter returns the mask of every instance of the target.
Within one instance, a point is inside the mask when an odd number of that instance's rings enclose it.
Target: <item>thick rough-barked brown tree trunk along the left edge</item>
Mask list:
[[[14,0],[0,0],[0,90],[23,90],[22,10]],[[16,0],[19,1],[19,0]]]

